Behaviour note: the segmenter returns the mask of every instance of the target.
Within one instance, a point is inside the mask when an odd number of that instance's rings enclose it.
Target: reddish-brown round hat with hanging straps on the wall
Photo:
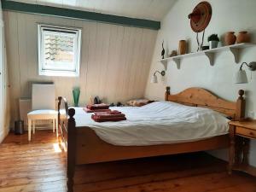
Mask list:
[[[196,40],[198,44],[198,50],[201,50],[203,45],[205,29],[207,28],[211,18],[212,18],[212,6],[208,2],[198,3],[193,12],[189,14],[190,26],[194,32],[196,32]],[[203,32],[201,44],[198,39],[198,32]]]

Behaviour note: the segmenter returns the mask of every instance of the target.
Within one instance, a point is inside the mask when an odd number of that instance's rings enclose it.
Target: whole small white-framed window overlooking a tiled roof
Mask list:
[[[38,71],[47,76],[79,76],[81,29],[38,25]]]

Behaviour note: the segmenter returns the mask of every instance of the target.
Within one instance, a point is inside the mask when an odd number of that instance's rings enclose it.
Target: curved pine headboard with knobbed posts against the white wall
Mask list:
[[[229,102],[215,96],[208,90],[192,87],[182,92],[171,95],[170,87],[166,87],[166,101],[178,102],[183,105],[211,108],[219,113],[224,113],[232,119],[243,119],[245,116],[244,90],[238,91],[236,102]]]

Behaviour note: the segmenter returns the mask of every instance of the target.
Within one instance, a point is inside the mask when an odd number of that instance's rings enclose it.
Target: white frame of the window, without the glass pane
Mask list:
[[[47,69],[44,67],[44,34],[49,31],[65,32],[75,36],[74,41],[74,67],[72,69]],[[67,26],[52,26],[38,24],[38,74],[45,76],[79,77],[80,54],[81,54],[81,33],[80,28]]]

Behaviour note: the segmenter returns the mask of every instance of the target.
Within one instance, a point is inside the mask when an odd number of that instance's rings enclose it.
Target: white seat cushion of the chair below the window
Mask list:
[[[40,109],[27,113],[28,119],[55,119],[58,112],[52,109]]]

